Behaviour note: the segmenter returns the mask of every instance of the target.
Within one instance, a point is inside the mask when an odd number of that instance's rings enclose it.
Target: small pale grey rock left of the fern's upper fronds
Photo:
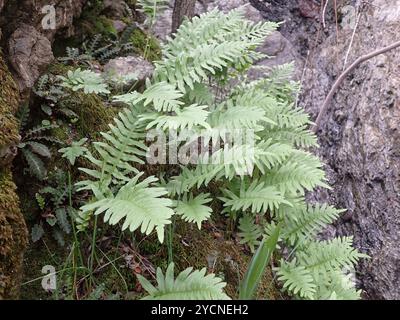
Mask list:
[[[134,73],[137,80],[143,82],[146,78],[151,77],[153,72],[154,66],[139,56],[119,57],[110,60],[104,66],[104,75],[107,78],[116,77],[117,79],[123,79],[124,77]]]

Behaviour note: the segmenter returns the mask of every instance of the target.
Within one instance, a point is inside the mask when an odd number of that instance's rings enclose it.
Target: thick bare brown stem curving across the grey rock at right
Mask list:
[[[317,120],[315,120],[315,125],[312,127],[312,131],[314,133],[316,133],[319,130],[319,128],[321,126],[322,118],[325,116],[326,112],[328,111],[329,105],[330,105],[336,91],[339,89],[340,85],[343,83],[343,81],[346,79],[347,75],[350,72],[352,72],[355,68],[358,67],[359,64],[363,63],[364,61],[372,59],[378,55],[384,54],[384,53],[391,51],[393,49],[396,49],[398,47],[400,47],[400,41],[394,42],[387,47],[384,47],[382,49],[379,49],[379,50],[373,51],[371,53],[368,53],[366,55],[363,55],[363,56],[359,57],[356,61],[354,61],[353,64],[351,66],[349,66],[333,84],[332,89],[329,91],[328,96],[326,97],[324,103],[322,104],[322,107],[318,113]]]

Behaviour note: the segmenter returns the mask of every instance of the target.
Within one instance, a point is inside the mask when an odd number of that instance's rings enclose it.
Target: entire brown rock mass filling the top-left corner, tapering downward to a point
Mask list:
[[[20,89],[26,91],[49,63],[53,61],[51,42],[56,34],[69,37],[73,34],[73,20],[82,12],[86,0],[54,0],[56,25],[54,29],[43,28],[46,14],[43,8],[47,0],[21,0],[2,2],[0,29],[8,44],[10,63]]]

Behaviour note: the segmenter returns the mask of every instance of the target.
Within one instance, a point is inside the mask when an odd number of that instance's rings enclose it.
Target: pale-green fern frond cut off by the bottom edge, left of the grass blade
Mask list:
[[[225,283],[214,274],[206,275],[206,269],[192,271],[187,268],[174,279],[174,264],[168,266],[165,276],[157,269],[154,287],[146,278],[138,275],[142,287],[148,292],[146,300],[230,300],[223,292]]]

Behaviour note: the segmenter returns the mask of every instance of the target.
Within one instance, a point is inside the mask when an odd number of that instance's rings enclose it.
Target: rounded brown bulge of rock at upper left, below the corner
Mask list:
[[[23,24],[9,39],[9,60],[17,73],[21,91],[32,88],[54,60],[51,43],[34,27]]]

